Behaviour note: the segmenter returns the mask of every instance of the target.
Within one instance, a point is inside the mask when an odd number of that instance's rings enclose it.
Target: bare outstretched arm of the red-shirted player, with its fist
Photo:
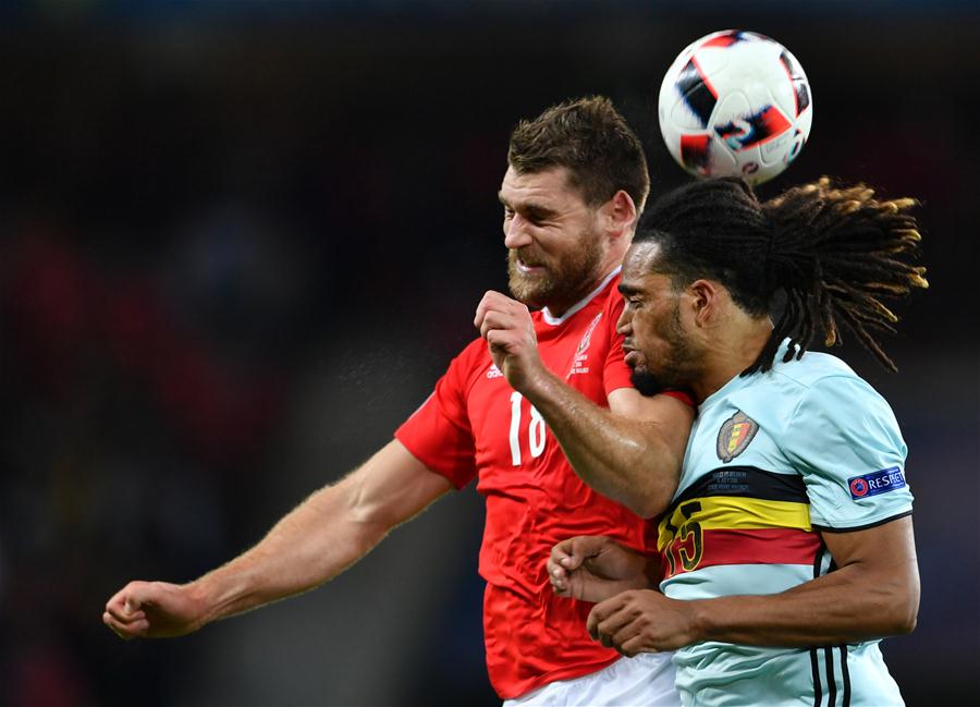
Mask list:
[[[313,493],[254,548],[194,582],[131,582],[106,605],[123,638],[166,637],[311,589],[452,488],[397,440]]]

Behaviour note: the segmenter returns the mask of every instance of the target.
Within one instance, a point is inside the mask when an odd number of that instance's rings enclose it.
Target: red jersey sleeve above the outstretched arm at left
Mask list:
[[[413,456],[456,488],[466,486],[477,473],[462,358],[453,359],[432,394],[395,430],[395,438]]]

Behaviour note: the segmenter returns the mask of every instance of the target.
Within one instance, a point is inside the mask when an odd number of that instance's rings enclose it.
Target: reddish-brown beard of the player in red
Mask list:
[[[544,268],[537,276],[522,272],[517,260]],[[531,307],[564,309],[581,300],[598,283],[602,275],[600,239],[591,231],[581,233],[574,247],[564,255],[542,256],[534,246],[507,254],[507,287],[515,300]]]

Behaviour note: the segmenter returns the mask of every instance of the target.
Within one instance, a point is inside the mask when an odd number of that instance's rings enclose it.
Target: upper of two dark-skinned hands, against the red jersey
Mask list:
[[[647,559],[609,537],[579,535],[551,548],[548,578],[560,597],[602,601],[650,586]]]

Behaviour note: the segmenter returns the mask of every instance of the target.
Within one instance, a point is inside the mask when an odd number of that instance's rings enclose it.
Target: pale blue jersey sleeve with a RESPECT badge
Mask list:
[[[785,444],[803,473],[814,528],[858,531],[911,513],[898,423],[860,378],[832,376],[811,386]]]

